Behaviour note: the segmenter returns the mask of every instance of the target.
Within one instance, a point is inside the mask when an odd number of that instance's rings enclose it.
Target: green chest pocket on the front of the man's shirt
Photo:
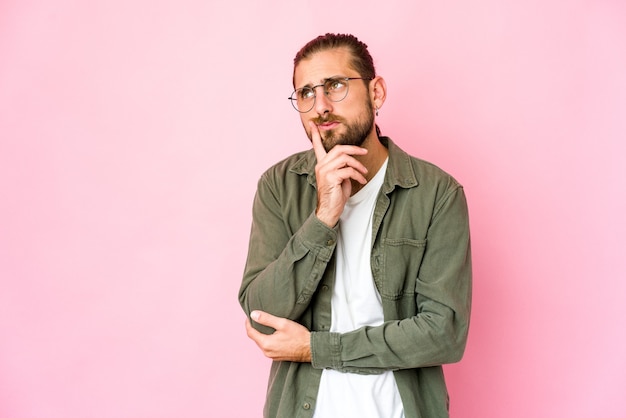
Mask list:
[[[385,238],[383,243],[384,275],[379,287],[386,299],[400,299],[415,295],[426,240]]]

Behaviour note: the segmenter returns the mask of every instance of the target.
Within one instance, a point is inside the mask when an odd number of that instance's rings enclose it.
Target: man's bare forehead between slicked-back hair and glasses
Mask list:
[[[352,55],[346,48],[328,49],[316,52],[307,59],[300,61],[294,70],[295,87],[322,83],[328,77],[345,75],[358,77],[356,70],[350,65]]]

